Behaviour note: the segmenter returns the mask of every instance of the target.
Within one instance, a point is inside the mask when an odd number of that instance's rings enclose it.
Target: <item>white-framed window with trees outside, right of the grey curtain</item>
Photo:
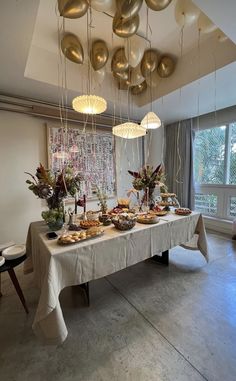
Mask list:
[[[236,122],[195,131],[195,209],[236,217]]]

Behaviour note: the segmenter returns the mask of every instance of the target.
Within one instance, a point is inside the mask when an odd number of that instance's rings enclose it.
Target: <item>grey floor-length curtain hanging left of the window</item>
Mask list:
[[[165,127],[165,172],[169,192],[180,205],[194,208],[192,119]]]

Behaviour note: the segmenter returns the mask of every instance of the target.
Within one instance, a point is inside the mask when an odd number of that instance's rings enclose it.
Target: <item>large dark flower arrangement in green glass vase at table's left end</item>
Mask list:
[[[75,174],[71,167],[53,172],[45,169],[42,164],[36,174],[25,172],[31,179],[26,180],[29,189],[39,198],[46,200],[48,210],[42,212],[42,218],[50,230],[59,230],[63,225],[63,199],[68,195],[75,196],[80,189],[81,176]]]

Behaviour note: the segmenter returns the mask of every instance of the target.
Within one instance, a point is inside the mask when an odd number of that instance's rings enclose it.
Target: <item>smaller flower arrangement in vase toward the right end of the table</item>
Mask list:
[[[165,173],[162,164],[159,164],[154,170],[151,165],[145,165],[138,172],[128,171],[134,177],[132,182],[134,189],[143,191],[141,200],[141,207],[147,206],[152,208],[154,206],[154,190],[157,185],[160,186],[161,192],[167,192],[165,185]]]

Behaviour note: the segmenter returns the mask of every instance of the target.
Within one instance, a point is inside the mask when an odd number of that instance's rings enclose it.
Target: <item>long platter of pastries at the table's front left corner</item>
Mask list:
[[[92,238],[97,238],[101,235],[103,235],[104,230],[101,228],[96,228],[97,230],[94,230],[93,228],[89,229],[86,232],[72,232],[70,234],[63,234],[61,235],[57,243],[61,246],[68,246],[68,245],[74,245],[76,243],[88,241]]]

